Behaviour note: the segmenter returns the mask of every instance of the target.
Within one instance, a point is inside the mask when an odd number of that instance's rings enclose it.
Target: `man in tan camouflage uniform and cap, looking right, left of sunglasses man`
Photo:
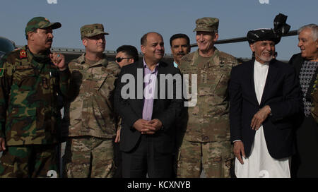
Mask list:
[[[64,176],[112,177],[117,118],[113,112],[114,81],[119,73],[108,62],[102,24],[84,25],[81,39],[86,53],[69,63],[76,95],[66,103],[64,125],[68,130],[64,155]]]

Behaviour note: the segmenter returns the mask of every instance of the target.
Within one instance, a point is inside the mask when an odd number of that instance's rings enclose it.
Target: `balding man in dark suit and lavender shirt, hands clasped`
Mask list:
[[[123,121],[122,176],[170,177],[175,119],[183,104],[181,74],[161,61],[165,49],[157,32],[143,35],[141,52],[141,61],[122,68],[114,95],[114,107]]]

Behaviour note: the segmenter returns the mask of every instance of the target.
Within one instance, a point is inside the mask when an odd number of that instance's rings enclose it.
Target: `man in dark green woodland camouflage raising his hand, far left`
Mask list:
[[[69,95],[70,72],[61,54],[51,54],[52,30],[61,23],[31,19],[28,46],[0,61],[0,177],[58,176],[57,94]]]

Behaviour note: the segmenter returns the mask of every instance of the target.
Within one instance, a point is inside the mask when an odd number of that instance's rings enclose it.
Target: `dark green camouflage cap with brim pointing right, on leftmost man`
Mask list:
[[[52,30],[61,28],[61,23],[51,23],[47,18],[44,17],[35,17],[29,20],[28,24],[25,27],[25,35],[28,35],[28,32],[35,31],[36,29],[43,29],[52,27]]]

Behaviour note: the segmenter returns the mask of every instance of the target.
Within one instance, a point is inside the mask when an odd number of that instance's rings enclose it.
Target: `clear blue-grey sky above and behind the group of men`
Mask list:
[[[62,25],[53,32],[52,47],[83,49],[81,26],[102,23],[110,33],[106,35],[107,50],[131,44],[140,52],[142,35],[155,31],[163,35],[165,53],[170,54],[169,40],[175,33],[185,33],[190,43],[196,43],[193,30],[197,18],[219,18],[218,40],[224,40],[245,37],[249,30],[257,28],[273,28],[278,13],[288,16],[290,30],[317,24],[317,7],[317,0],[1,0],[0,36],[17,45],[27,44],[26,23],[43,16]],[[297,44],[297,36],[283,37],[276,45],[277,59],[288,60],[300,52]],[[216,47],[236,57],[252,55],[247,42]],[[193,47],[192,52],[195,50]]]

